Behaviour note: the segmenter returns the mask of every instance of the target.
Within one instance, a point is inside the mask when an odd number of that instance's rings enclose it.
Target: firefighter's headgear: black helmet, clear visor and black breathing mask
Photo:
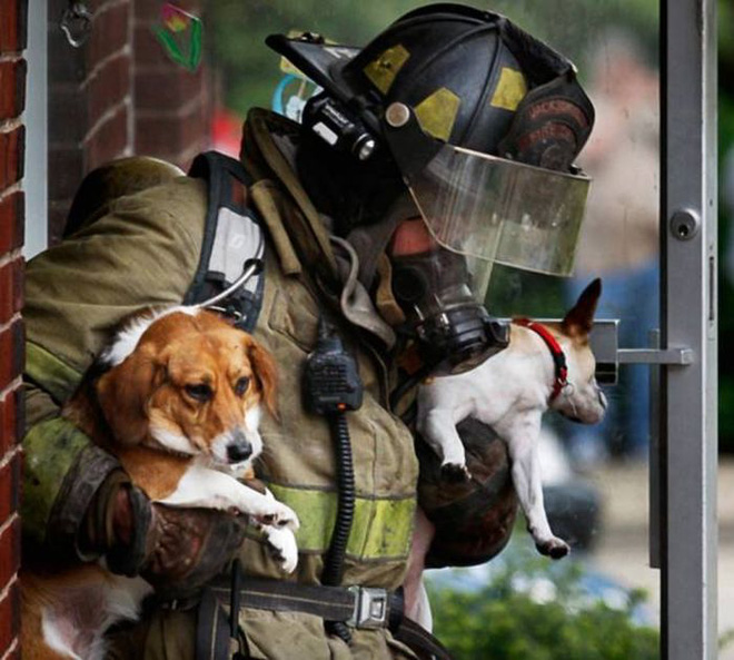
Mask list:
[[[367,286],[387,254],[400,329],[425,363],[450,368],[502,344],[483,305],[495,263],[571,275],[589,187],[573,160],[594,110],[567,59],[457,4],[411,11],[363,49],[313,35],[267,43],[325,90],[307,131],[397,166],[413,213],[341,234],[361,239]]]

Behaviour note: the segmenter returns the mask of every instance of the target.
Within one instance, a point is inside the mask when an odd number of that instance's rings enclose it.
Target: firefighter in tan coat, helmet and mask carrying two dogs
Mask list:
[[[240,197],[265,236],[260,284],[249,287],[251,329],[280,381],[280,420],[262,421],[258,476],[300,519],[295,579],[278,591],[276,562],[230,515],[151,504],[59,414],[120,319],[191,299],[211,180],[150,162],[146,176],[130,175],[137,160],[92,173],[72,208],[73,232],[28,265],[27,545],[105,556],[167,594],[140,622],[110,632],[112,658],[201,657],[205,642],[222,658],[230,646],[274,660],[439,653],[429,637],[416,646],[396,628],[418,500],[420,529],[435,529],[427,565],[494,556],[516,501],[504,445],[476,424],[463,427],[476,479],[442,473],[409,426],[414,386],[473,368],[506,344],[507,328],[483,304],[493,262],[569,268],[588,185],[573,161],[594,111],[563,56],[504,17],[458,4],[411,11],[363,49],[311,33],[267,42],[323,88],[300,125],[251,110],[240,155]],[[347,417],[355,506],[333,590],[321,583],[339,502],[337,452],[328,420],[305,406],[302,392],[324,318],[364,387]],[[217,646],[212,612],[229,601],[211,605],[199,588],[214,580],[226,591],[234,556],[244,604],[236,643],[224,634]],[[251,580],[275,595],[248,600]],[[317,590],[310,609],[294,605],[305,588]],[[353,603],[355,593],[377,609],[330,625],[318,603]]]

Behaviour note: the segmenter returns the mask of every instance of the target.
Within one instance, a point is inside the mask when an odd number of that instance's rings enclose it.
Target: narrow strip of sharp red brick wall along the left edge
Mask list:
[[[0,0],[0,658],[17,659],[27,1]]]

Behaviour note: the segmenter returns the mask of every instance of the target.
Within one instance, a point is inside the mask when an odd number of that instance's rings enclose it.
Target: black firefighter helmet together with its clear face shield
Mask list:
[[[500,14],[449,3],[408,12],[361,49],[313,33],[266,42],[324,88],[304,125],[328,145],[321,160],[339,156],[306,184],[353,204],[335,214],[347,217],[339,233],[379,221],[407,187],[444,247],[571,273],[589,185],[574,159],[594,108],[569,60]]]

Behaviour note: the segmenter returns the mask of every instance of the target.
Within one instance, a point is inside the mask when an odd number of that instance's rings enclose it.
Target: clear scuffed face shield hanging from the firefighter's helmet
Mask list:
[[[571,275],[591,179],[443,145],[406,184],[434,238],[474,259]]]

